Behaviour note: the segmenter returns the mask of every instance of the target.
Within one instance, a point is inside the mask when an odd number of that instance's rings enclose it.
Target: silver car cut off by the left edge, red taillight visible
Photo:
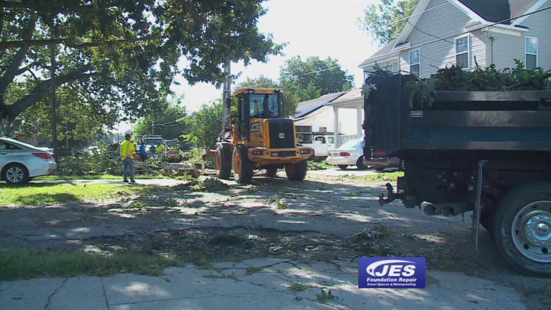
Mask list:
[[[0,180],[25,184],[34,177],[52,174],[56,169],[51,149],[0,138]]]

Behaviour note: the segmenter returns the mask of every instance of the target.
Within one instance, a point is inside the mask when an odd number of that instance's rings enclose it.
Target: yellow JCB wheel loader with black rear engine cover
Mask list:
[[[278,168],[285,168],[290,180],[303,180],[314,150],[296,145],[295,123],[282,117],[282,91],[242,88],[234,95],[237,124],[226,123],[214,152],[218,178],[228,179],[233,169],[235,181],[246,184],[254,170],[273,177]],[[225,109],[230,103],[226,100]]]

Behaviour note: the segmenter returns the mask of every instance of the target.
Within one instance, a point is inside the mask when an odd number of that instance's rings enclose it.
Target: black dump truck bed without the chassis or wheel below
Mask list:
[[[412,80],[397,74],[374,82],[377,90],[365,100],[366,145],[373,146],[373,157],[551,150],[551,91],[436,92],[430,106],[412,108],[405,87]]]

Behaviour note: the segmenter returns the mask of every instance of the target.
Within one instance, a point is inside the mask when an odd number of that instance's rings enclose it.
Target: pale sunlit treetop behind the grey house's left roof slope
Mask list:
[[[358,18],[358,26],[368,31],[379,45],[396,39],[413,13],[419,0],[382,0],[381,4],[371,4],[365,9],[363,18]],[[398,22],[399,20],[399,22]]]

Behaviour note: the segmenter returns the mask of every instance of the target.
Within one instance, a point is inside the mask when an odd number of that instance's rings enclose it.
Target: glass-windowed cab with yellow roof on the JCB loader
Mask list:
[[[262,120],[283,117],[282,91],[278,88],[242,88],[235,96],[240,140],[251,141],[251,133],[261,131]]]

